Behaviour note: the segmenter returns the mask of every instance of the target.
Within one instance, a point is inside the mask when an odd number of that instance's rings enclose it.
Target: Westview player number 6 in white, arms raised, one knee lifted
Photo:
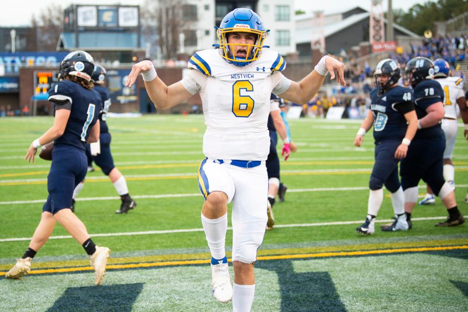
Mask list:
[[[263,49],[267,30],[250,9],[228,13],[216,31],[218,49],[196,52],[192,70],[170,86],[157,77],[153,63],[135,64],[126,85],[143,73],[146,90],[156,108],[167,109],[199,92],[207,129],[206,156],[198,170],[205,203],[201,220],[212,255],[213,294],[220,302],[233,300],[233,310],[249,312],[254,300],[254,262],[267,224],[265,204],[268,175],[265,166],[270,137],[267,128],[273,93],[295,103],[307,103],[325,80],[345,84],[343,64],[325,56],[299,83],[283,76],[285,60]],[[234,291],[225,253],[227,204],[233,202]]]

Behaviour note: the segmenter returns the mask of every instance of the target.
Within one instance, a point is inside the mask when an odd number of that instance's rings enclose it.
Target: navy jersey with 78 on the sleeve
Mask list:
[[[444,90],[439,82],[428,79],[419,82],[413,89],[414,108],[418,119],[428,115],[426,109],[437,102],[444,103]],[[444,137],[441,124],[438,123],[429,128],[423,128],[416,131],[414,138],[440,138]]]

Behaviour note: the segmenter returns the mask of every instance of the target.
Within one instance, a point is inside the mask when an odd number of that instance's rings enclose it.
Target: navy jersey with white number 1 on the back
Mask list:
[[[70,109],[65,132],[54,141],[54,145],[72,145],[86,150],[89,131],[96,124],[101,110],[99,95],[76,82],[62,80],[55,83],[49,90],[49,101],[54,103],[54,116],[55,111],[60,109],[60,105]],[[71,103],[71,106],[66,106],[69,105],[66,103]]]

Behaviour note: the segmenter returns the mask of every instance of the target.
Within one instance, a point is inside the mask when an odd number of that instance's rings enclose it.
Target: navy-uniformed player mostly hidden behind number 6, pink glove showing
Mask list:
[[[278,153],[276,153],[278,136],[276,132],[283,140],[281,155],[284,156],[285,161],[288,159],[291,152],[297,151],[297,147],[291,141],[291,134],[289,126],[287,126],[287,121],[284,119],[284,114],[281,112],[281,108],[286,105],[284,99],[278,98],[272,93],[270,102],[272,107],[267,123],[268,130],[270,131],[270,153],[266,160],[268,173],[267,230],[273,229],[274,225],[273,205],[275,197],[278,195],[278,201],[284,201],[284,195],[287,190],[287,186],[279,180],[279,157]]]

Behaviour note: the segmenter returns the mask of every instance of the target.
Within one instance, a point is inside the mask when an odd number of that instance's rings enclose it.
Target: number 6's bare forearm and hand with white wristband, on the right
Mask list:
[[[336,71],[336,75],[334,71]],[[306,104],[318,92],[325,81],[327,73],[330,73],[331,79],[336,77],[337,83],[343,86],[346,85],[344,64],[337,59],[325,56],[318,62],[315,69],[309,75],[299,83],[292,81],[288,90],[279,96],[294,103]]]

